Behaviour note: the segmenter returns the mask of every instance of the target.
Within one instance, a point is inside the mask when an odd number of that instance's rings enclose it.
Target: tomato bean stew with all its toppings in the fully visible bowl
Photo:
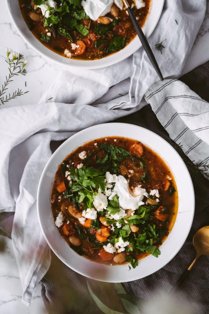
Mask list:
[[[86,143],[58,167],[51,195],[55,225],[80,255],[133,268],[175,222],[178,194],[165,162],[129,138]]]

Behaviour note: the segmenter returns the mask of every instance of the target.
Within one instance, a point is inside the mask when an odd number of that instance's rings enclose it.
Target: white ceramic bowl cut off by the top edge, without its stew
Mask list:
[[[33,33],[28,29],[24,18],[20,12],[18,0],[6,0],[8,5],[9,14],[13,23],[17,27],[20,35],[23,39],[39,54],[43,57],[55,61],[64,66],[74,66],[81,67],[85,69],[96,69],[103,68],[109,65],[115,64],[119,61],[124,60],[125,58],[132,55],[137,51],[142,45],[138,37],[130,42],[124,49],[114,53],[108,57],[104,57],[99,60],[74,60],[62,57],[55,52],[51,51],[45,47],[38,39],[33,35]],[[154,31],[160,15],[162,13],[164,0],[154,0],[150,9],[149,17],[144,25],[143,31],[146,37],[148,38]]]

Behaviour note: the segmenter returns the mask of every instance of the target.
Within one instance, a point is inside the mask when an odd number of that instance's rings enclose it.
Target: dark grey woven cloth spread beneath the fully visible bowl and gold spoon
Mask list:
[[[201,98],[209,101],[209,62],[187,73],[180,80],[200,95]],[[195,171],[180,147],[169,138],[149,105],[130,116],[116,120],[116,122],[126,122],[148,128],[173,145],[188,165],[195,188],[195,217],[190,234],[180,252],[158,272],[144,279],[123,283],[123,287],[129,295],[139,298],[133,297],[132,299],[133,302],[138,302],[135,303],[138,305],[140,298],[148,300],[160,291],[169,292],[195,257],[195,250],[192,245],[193,235],[199,228],[209,225],[209,182],[199,172]],[[60,143],[52,143],[52,149],[54,150],[58,145]],[[10,235],[12,221],[13,213],[0,214],[0,230],[4,232],[5,236]],[[179,303],[190,305],[193,311],[198,314],[209,313],[208,269],[209,258],[200,257],[177,295]],[[118,296],[118,293],[123,294],[125,292],[123,287],[90,279],[86,280],[85,277],[65,266],[52,253],[50,269],[42,279],[42,297],[50,313],[127,313],[126,297],[122,295],[124,299],[121,303]],[[131,296],[129,300],[131,300]],[[112,311],[108,311],[108,308],[111,308]],[[132,313],[139,313],[134,306],[132,307]]]

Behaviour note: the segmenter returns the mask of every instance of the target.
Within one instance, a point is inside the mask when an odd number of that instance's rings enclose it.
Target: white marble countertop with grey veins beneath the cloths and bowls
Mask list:
[[[209,59],[209,1],[207,0],[207,11],[203,24],[198,32],[195,44],[187,59],[182,74],[191,71],[198,65]],[[39,101],[43,92],[53,81],[60,65],[50,63],[41,57],[36,51],[28,46],[18,34],[15,26],[9,17],[5,1],[1,2],[0,11],[0,68],[1,81],[7,73],[5,59],[5,47],[11,47],[17,52],[21,52],[29,61],[27,65],[27,75],[18,78],[18,85],[13,82],[13,87],[29,90],[29,93],[19,97],[17,100],[4,105],[4,107],[35,104]],[[27,87],[25,87],[25,82]],[[53,96],[53,95],[52,95]],[[37,314],[46,313],[44,303],[41,298],[41,285],[39,284],[33,294],[30,307],[21,303],[22,287],[18,275],[11,240],[0,236],[0,243],[4,243],[4,250],[0,250],[0,312],[3,314]],[[2,247],[2,246],[1,246]]]

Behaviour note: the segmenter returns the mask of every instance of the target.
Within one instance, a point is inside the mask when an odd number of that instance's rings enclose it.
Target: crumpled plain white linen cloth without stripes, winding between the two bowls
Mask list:
[[[164,77],[180,75],[205,9],[205,0],[165,1],[159,24],[149,38]],[[161,55],[154,45],[165,39]],[[0,211],[15,210],[12,241],[24,304],[30,304],[35,284],[50,265],[50,250],[36,213],[37,187],[51,155],[50,141],[137,111],[145,104],[143,95],[157,80],[141,48],[108,68],[62,71],[39,104],[1,110]],[[51,97],[53,102],[47,103]]]

